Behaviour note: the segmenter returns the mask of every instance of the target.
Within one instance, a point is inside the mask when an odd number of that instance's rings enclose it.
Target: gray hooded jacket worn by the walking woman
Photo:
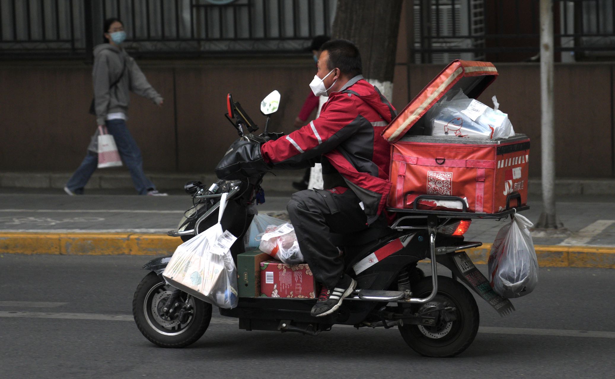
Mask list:
[[[113,87],[109,88],[122,73],[124,76]],[[148,83],[137,62],[124,49],[111,44],[100,44],[94,49],[94,108],[97,125],[104,125],[106,115],[114,112],[128,114],[130,91],[148,98],[155,104],[160,104],[162,97]]]

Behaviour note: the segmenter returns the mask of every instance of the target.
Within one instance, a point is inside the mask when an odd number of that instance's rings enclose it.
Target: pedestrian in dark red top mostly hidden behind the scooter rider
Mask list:
[[[312,39],[312,44],[308,47],[308,50],[312,52],[314,63],[318,63],[318,57],[320,56],[320,47],[322,44],[329,41],[328,36],[315,36]],[[322,104],[327,102],[327,96],[315,96],[311,91],[309,92],[306,101],[303,102],[299,115],[295,118],[293,126],[295,129],[303,127],[308,121],[309,115],[312,114],[314,108],[316,108],[316,118],[320,115],[320,108]],[[308,188],[322,189],[322,166],[320,163],[316,163],[314,167],[308,167],[303,174],[303,179],[299,182],[293,182],[293,187],[297,190],[305,190]]]

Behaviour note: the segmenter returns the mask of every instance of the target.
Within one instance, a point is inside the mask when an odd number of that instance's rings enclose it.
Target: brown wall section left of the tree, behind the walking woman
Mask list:
[[[131,98],[128,125],[145,169],[212,170],[237,138],[224,118],[228,92],[262,130],[260,100],[279,90],[282,102],[270,130],[292,131],[313,66],[305,58],[141,63],[165,99],[159,108],[139,96]],[[96,127],[87,114],[90,70],[82,63],[0,65],[0,170],[72,171],[79,165]]]

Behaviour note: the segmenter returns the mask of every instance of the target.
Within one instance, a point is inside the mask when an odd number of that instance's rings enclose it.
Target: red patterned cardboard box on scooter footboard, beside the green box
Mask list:
[[[261,296],[314,299],[316,283],[308,264],[287,265],[279,260],[261,262]]]

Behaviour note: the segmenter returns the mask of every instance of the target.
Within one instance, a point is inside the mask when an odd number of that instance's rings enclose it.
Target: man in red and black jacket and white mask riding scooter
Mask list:
[[[309,85],[315,96],[329,96],[320,117],[275,141],[238,140],[216,168],[218,178],[231,179],[239,171],[322,163],[325,190],[296,192],[287,206],[301,252],[323,284],[313,316],[335,312],[355,289],[330,235],[360,232],[384,217],[391,157],[380,134],[396,115],[391,103],[363,79],[359,49],[352,42],[328,41],[321,50]]]

